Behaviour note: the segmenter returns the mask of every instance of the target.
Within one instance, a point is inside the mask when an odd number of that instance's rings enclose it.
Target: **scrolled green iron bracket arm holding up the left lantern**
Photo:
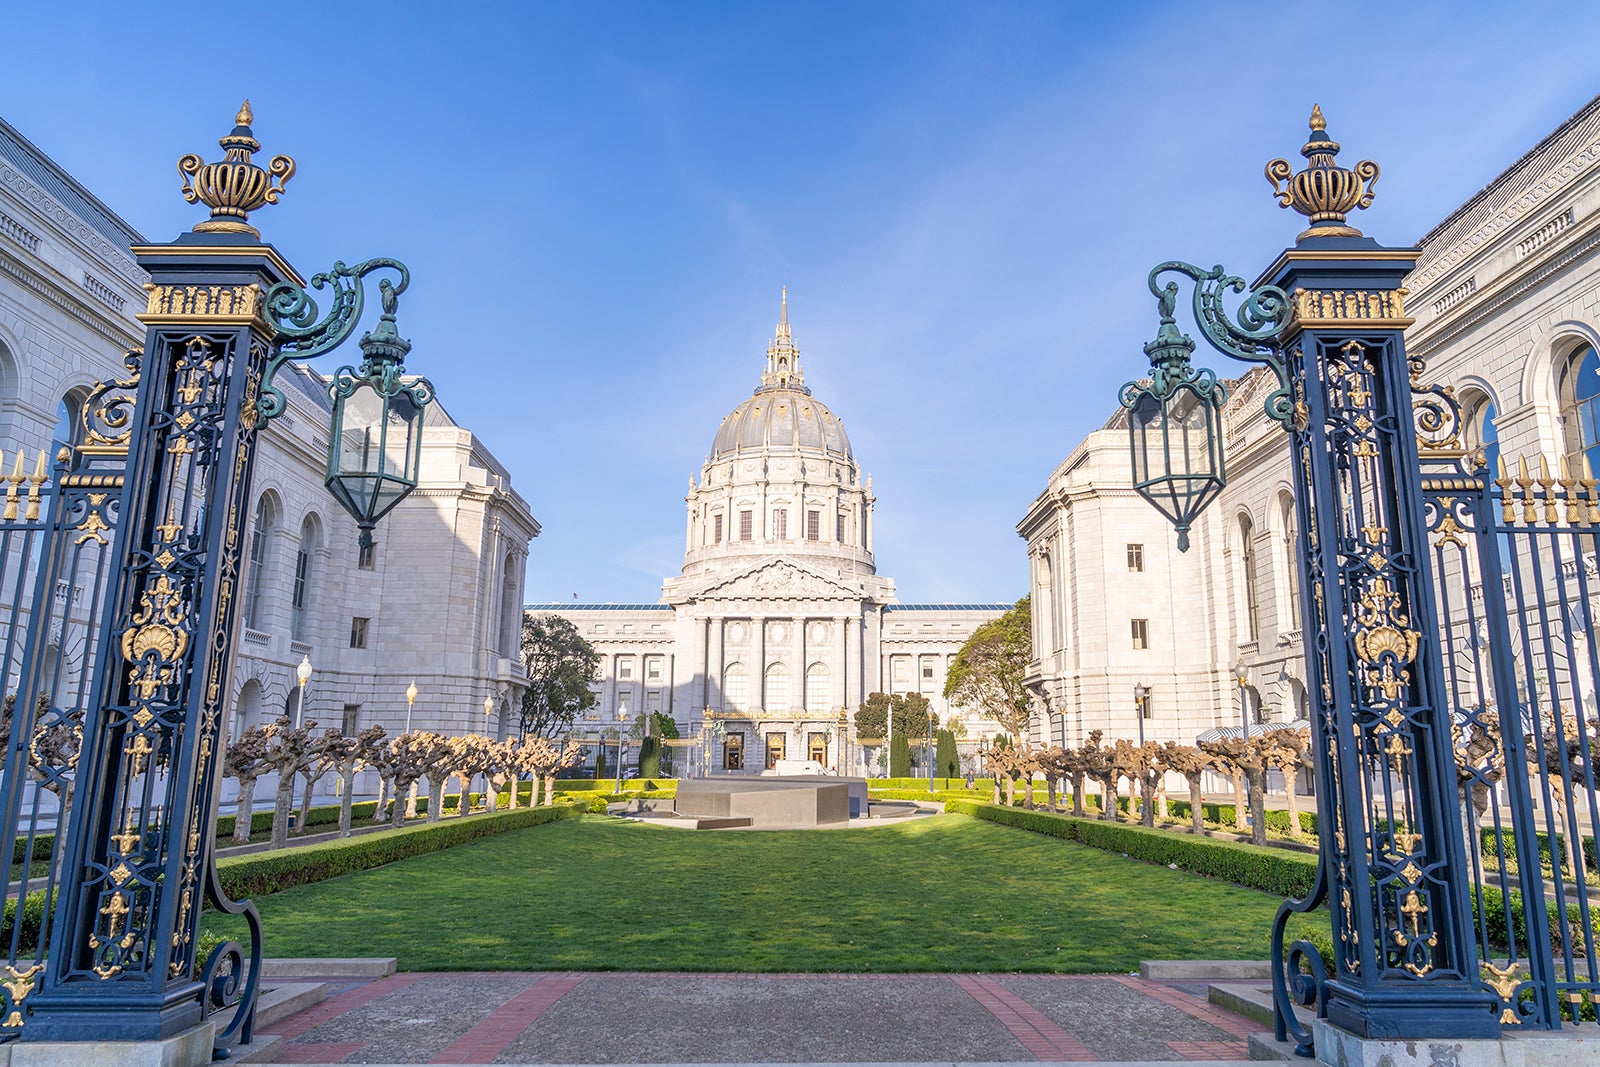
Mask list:
[[[354,267],[336,261],[331,270],[312,275],[312,290],[331,290],[328,314],[318,318],[317,301],[304,288],[293,282],[278,282],[267,290],[266,315],[277,331],[272,355],[261,376],[261,398],[258,410],[262,418],[272,419],[283,413],[283,390],[277,387],[278,370],[290,360],[310,360],[344,344],[362,322],[366,306],[366,293],[362,280],[373,270],[394,270],[398,282],[382,278],[379,282],[379,299],[386,317],[394,317],[398,296],[411,285],[411,272],[398,259],[379,256],[366,259]],[[398,374],[400,371],[395,371]],[[426,379],[424,379],[426,384]],[[398,390],[397,390],[398,392]],[[426,390],[432,397],[432,387]],[[426,403],[426,400],[422,402]]]

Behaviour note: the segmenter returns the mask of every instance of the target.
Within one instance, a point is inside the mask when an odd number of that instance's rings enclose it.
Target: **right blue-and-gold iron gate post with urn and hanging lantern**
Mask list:
[[[1211,347],[1267,368],[1264,411],[1290,434],[1309,605],[1306,678],[1318,694],[1317,795],[1326,800],[1330,824],[1341,827],[1322,838],[1312,891],[1278,909],[1272,926],[1275,1030],[1302,1053],[1320,1041],[1294,1017],[1293,1003],[1312,1000],[1326,1005],[1331,1025],[1358,1037],[1499,1033],[1478,968],[1454,723],[1435,651],[1440,622],[1419,461],[1419,437],[1434,416],[1419,414],[1414,397],[1422,387],[1414,378],[1422,368],[1405,349],[1413,320],[1403,286],[1419,253],[1384,248],[1347,224],[1350,211],[1371,205],[1378,165],[1338,165],[1339,144],[1326,126],[1314,107],[1304,170],[1282,158],[1267,163],[1278,205],[1310,226],[1254,286],[1222,267],[1168,261],[1150,270],[1160,325],[1144,346],[1146,378],[1120,395],[1133,488],[1171,520],[1179,550],[1189,549],[1195,520],[1227,480],[1227,390],[1190,362],[1195,342],[1178,328],[1173,277],[1192,285],[1192,318]],[[1229,293],[1245,293],[1232,312],[1224,306]],[[1440,418],[1454,432],[1451,416]],[[1245,675],[1240,664],[1248,737]],[[1384,773],[1400,785],[1381,793],[1362,787],[1365,776]],[[1395,832],[1400,825],[1408,829]],[[1323,901],[1334,958],[1323,961],[1306,941],[1290,955],[1290,918]],[[1301,984],[1301,957],[1310,961],[1309,985]],[[1307,998],[1290,992],[1291,968]]]

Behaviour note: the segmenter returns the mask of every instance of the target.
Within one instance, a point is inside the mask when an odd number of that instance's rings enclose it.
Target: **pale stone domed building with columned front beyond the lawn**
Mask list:
[[[843,421],[811,395],[784,293],[755,392],[717,427],[690,478],[683,571],[661,600],[528,605],[570,619],[602,653],[600,702],[576,733],[619,715],[670,715],[691,768],[755,773],[816,760],[866,773],[853,712],[870,693],[922,693],[941,720],[962,643],[1006,603],[901,605],[872,557],[872,478]],[[992,723],[968,717],[968,736]]]

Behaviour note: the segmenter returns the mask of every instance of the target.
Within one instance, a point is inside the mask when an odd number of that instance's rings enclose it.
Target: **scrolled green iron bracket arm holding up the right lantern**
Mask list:
[[[1194,283],[1194,317],[1200,333],[1213,349],[1243,363],[1262,363],[1272,368],[1278,387],[1267,397],[1262,408],[1267,418],[1288,427],[1294,416],[1288,370],[1283,363],[1280,338],[1290,318],[1288,294],[1275,285],[1250,290],[1232,314],[1222,302],[1226,293],[1245,293],[1245,280],[1227,274],[1221,264],[1210,270],[1170,259],[1150,270],[1149,286],[1162,314],[1162,323],[1171,323],[1178,307],[1178,282],[1160,282],[1165,274],[1179,274]]]

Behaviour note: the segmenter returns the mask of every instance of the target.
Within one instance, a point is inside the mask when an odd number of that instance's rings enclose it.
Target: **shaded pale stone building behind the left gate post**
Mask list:
[[[43,152],[0,122],[0,450],[6,462],[72,440],[78,406],[125,374],[144,346],[134,318],[147,243]],[[429,354],[418,354],[426,365]],[[426,370],[426,366],[422,366]],[[354,520],[323,488],[326,379],[285,378],[288,410],[262,430],[246,526],[245,605],[234,665],[234,733],[293,712],[296,667],[310,657],[306,717],[398,733],[406,686],[414,725],[445,733],[517,721],[520,601],[539,525],[477,437],[434,403],[421,485],[363,555]],[[362,622],[357,622],[357,621]],[[445,624],[440,624],[443,621]],[[82,648],[61,649],[82,656]]]

